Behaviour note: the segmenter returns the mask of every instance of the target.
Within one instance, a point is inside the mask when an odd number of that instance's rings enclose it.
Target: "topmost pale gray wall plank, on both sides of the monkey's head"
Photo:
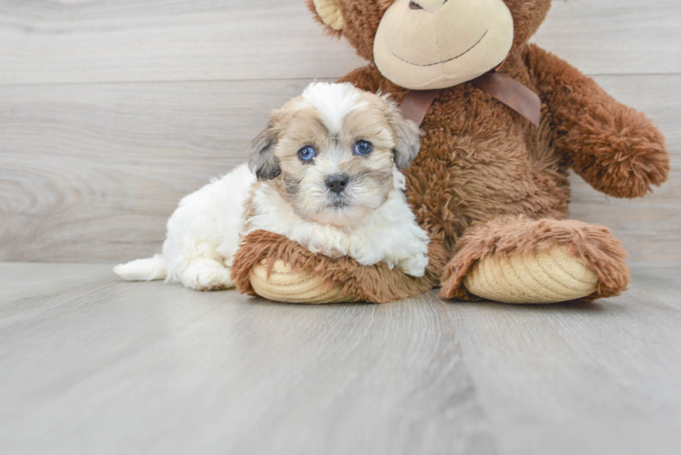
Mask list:
[[[587,74],[681,73],[675,0],[554,2],[536,41]],[[303,0],[0,1],[0,84],[341,76]]]

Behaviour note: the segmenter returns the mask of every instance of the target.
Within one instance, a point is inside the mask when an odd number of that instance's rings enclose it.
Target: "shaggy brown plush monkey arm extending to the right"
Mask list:
[[[666,181],[669,154],[650,119],[534,44],[526,61],[555,145],[586,182],[614,197],[642,197]]]

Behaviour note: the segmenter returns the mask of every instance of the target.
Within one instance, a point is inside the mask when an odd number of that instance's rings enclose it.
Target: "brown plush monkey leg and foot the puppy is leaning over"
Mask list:
[[[386,263],[370,267],[350,258],[331,259],[313,254],[283,235],[249,233],[231,265],[236,288],[274,301],[301,304],[367,301],[382,304],[403,300],[437,285],[446,264],[437,242],[429,245],[425,276],[416,278]]]

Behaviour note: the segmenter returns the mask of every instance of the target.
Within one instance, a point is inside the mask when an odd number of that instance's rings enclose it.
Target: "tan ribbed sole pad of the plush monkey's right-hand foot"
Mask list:
[[[524,256],[492,254],[463,279],[469,292],[505,304],[555,304],[596,291],[598,276],[563,247]]]

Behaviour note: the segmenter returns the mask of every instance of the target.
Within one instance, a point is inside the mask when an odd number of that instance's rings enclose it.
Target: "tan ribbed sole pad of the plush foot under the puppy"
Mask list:
[[[283,260],[272,266],[270,278],[267,276],[265,260],[261,260],[250,273],[251,286],[261,297],[292,304],[330,304],[347,303],[357,299],[341,294],[341,286],[328,288],[316,275],[294,272]]]

